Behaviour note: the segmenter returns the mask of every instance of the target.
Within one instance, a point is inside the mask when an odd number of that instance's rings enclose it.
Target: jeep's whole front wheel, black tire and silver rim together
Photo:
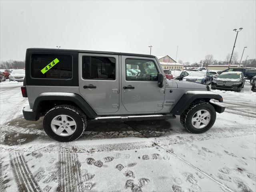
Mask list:
[[[216,120],[216,112],[206,102],[192,103],[180,116],[180,122],[188,132],[203,133],[209,130]]]

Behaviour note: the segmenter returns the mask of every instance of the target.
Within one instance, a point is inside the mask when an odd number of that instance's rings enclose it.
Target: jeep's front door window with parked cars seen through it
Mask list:
[[[126,59],[126,80],[134,81],[157,81],[158,70],[156,64],[151,60]],[[131,74],[129,70],[136,70]]]

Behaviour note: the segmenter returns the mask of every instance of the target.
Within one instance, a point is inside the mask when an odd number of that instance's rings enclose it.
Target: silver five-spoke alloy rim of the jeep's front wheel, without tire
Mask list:
[[[192,125],[196,129],[202,129],[210,122],[211,115],[207,110],[199,110],[192,117]]]

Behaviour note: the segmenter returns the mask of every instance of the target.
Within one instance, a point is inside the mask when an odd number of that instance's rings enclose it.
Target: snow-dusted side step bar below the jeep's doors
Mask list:
[[[108,122],[108,121],[140,121],[140,120],[157,120],[157,119],[174,119],[173,114],[157,115],[133,115],[133,116],[104,116],[91,119],[91,122]]]

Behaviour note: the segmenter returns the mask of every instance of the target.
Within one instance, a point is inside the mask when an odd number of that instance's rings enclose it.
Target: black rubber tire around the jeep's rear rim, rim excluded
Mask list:
[[[52,119],[58,115],[67,115],[74,119],[74,121],[76,122],[76,130],[73,134],[71,134],[70,136],[60,136],[52,130]],[[43,127],[46,134],[50,138],[60,142],[70,142],[78,139],[84,132],[86,126],[87,122],[84,112],[82,112],[82,110],[72,105],[55,106],[46,113],[43,121]]]

